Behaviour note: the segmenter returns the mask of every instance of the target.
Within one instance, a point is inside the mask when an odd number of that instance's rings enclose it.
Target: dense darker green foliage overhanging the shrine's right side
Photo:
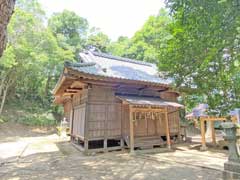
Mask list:
[[[196,87],[221,113],[239,107],[240,6],[237,1],[167,1],[174,21],[160,69],[176,86]]]

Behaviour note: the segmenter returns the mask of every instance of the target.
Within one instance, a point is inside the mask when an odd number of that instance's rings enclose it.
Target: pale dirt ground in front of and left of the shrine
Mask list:
[[[0,133],[0,179],[3,180],[215,180],[221,179],[226,160],[224,152],[199,152],[189,150],[186,145],[165,153],[141,152],[130,156],[122,151],[85,156],[56,134],[36,133],[34,128],[16,126],[18,133],[6,129],[4,136]]]

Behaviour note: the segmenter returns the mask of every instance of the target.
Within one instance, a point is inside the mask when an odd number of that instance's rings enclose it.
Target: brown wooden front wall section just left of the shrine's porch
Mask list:
[[[121,102],[112,88],[92,86],[88,96],[88,138],[121,136]]]

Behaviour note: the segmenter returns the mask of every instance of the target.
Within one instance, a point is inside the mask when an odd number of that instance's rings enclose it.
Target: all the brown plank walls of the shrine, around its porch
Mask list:
[[[124,90],[125,89],[125,90]],[[126,94],[139,94],[135,89],[118,89],[118,92]],[[106,139],[128,136],[129,135],[129,107],[115,97],[115,92],[111,87],[92,85],[91,89],[84,89],[81,93],[73,97],[73,134],[86,137],[88,140]],[[157,96],[153,90],[145,90],[142,95]],[[162,99],[176,101],[175,93],[158,93]],[[175,108],[169,108],[169,112],[175,111]],[[70,113],[71,114],[71,113]],[[137,124],[136,124],[137,125]],[[139,125],[139,124],[138,124]],[[159,122],[151,120],[147,122],[148,135],[162,134],[165,135],[164,117]],[[179,113],[169,114],[170,134],[178,134],[179,131]],[[86,129],[87,128],[87,129]],[[146,124],[142,127],[146,128]],[[142,129],[143,132],[146,129]],[[142,131],[140,129],[136,131]],[[141,134],[141,132],[140,132]]]

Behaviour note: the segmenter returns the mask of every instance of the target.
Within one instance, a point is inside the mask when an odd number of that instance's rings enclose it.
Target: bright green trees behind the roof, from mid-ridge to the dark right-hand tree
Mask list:
[[[120,37],[117,42],[112,43],[109,51],[115,55],[158,64],[158,56],[161,56],[171,37],[168,31],[170,22],[167,12],[161,9],[157,16],[150,16],[131,39]]]

